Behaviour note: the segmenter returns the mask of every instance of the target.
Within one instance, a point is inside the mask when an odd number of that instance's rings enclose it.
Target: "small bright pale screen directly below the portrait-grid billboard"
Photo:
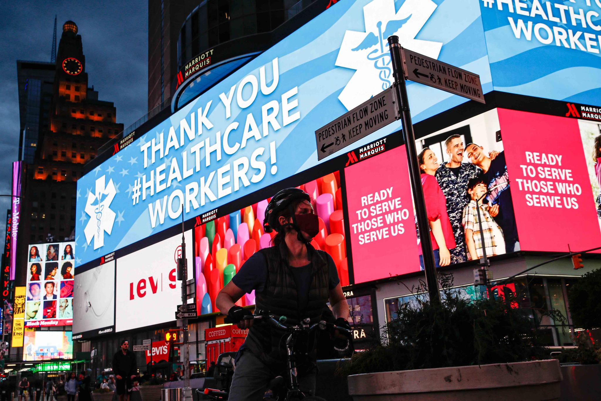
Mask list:
[[[26,331],[23,337],[23,361],[73,359],[70,331]]]

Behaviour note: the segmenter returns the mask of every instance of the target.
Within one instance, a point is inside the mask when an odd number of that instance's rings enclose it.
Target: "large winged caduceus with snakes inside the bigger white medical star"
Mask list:
[[[392,69],[390,67],[391,58],[390,58],[390,54],[388,52],[386,52],[386,53],[384,52],[385,43],[389,36],[394,34],[394,32],[398,31],[398,29],[400,29],[401,26],[403,26],[404,23],[406,23],[409,20],[411,15],[412,14],[409,14],[408,17],[403,18],[403,19],[396,19],[396,20],[388,21],[388,23],[386,23],[386,26],[385,26],[383,32],[382,32],[382,21],[378,21],[376,23],[377,33],[378,33],[377,37],[373,32],[370,32],[367,34],[365,39],[362,40],[361,43],[359,43],[359,45],[357,47],[355,47],[354,49],[351,49],[353,52],[356,52],[356,51],[360,51],[360,50],[369,49],[370,47],[376,46],[377,44],[380,45],[379,49],[377,49],[377,47],[376,47],[376,49],[369,52],[369,54],[367,55],[367,58],[368,58],[368,60],[371,60],[374,62],[374,67],[376,67],[376,69],[380,70],[378,76],[380,78],[380,81],[382,81],[382,90],[389,88],[390,85],[392,84],[391,79],[390,79],[390,77],[392,75]],[[388,44],[386,44],[386,45],[388,45]]]

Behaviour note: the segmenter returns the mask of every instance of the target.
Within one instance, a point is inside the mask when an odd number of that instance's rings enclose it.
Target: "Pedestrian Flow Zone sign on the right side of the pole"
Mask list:
[[[401,58],[406,79],[485,103],[479,75],[404,48]]]

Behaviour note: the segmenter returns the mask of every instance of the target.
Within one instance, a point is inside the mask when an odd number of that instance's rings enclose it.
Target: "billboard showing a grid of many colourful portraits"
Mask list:
[[[25,326],[73,323],[75,242],[36,243],[27,254]]]

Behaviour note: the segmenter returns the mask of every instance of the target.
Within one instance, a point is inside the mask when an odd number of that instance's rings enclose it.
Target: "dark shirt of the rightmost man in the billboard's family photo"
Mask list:
[[[483,176],[489,189],[495,185],[500,185],[490,192],[487,199],[491,204],[499,205],[499,214],[495,217],[495,221],[501,226],[505,241],[517,240],[516,217],[513,212],[513,203],[511,202],[511,188],[507,174],[505,152],[499,153],[490,162],[490,168]]]

